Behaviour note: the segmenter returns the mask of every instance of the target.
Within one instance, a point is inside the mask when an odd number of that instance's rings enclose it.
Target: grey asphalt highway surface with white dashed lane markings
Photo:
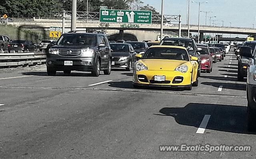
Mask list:
[[[0,75],[1,159],[255,158],[255,134],[246,130],[246,82],[236,79],[233,53],[202,73],[192,91],[134,89],[132,72],[122,69],[98,78],[46,76],[45,66]],[[160,145],[184,143],[252,149],[160,152]]]

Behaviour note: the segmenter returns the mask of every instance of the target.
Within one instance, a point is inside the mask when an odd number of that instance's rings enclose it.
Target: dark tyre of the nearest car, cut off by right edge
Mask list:
[[[253,110],[250,106],[250,103],[247,104],[247,129],[248,131],[256,131],[256,111]]]

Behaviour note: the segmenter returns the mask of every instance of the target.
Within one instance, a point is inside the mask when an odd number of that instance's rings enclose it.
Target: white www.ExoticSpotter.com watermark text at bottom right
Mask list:
[[[251,151],[251,146],[248,145],[162,145],[159,146],[161,152],[248,152]]]

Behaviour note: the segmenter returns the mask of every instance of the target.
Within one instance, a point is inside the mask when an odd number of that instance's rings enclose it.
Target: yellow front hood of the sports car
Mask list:
[[[182,60],[158,60],[158,59],[145,59],[141,60],[148,70],[157,70],[157,71],[174,71],[178,66],[185,64],[188,61]]]

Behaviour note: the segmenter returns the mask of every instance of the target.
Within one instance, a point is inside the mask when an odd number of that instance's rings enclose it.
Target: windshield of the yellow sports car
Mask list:
[[[179,48],[149,48],[142,59],[165,59],[189,61],[188,53]]]

